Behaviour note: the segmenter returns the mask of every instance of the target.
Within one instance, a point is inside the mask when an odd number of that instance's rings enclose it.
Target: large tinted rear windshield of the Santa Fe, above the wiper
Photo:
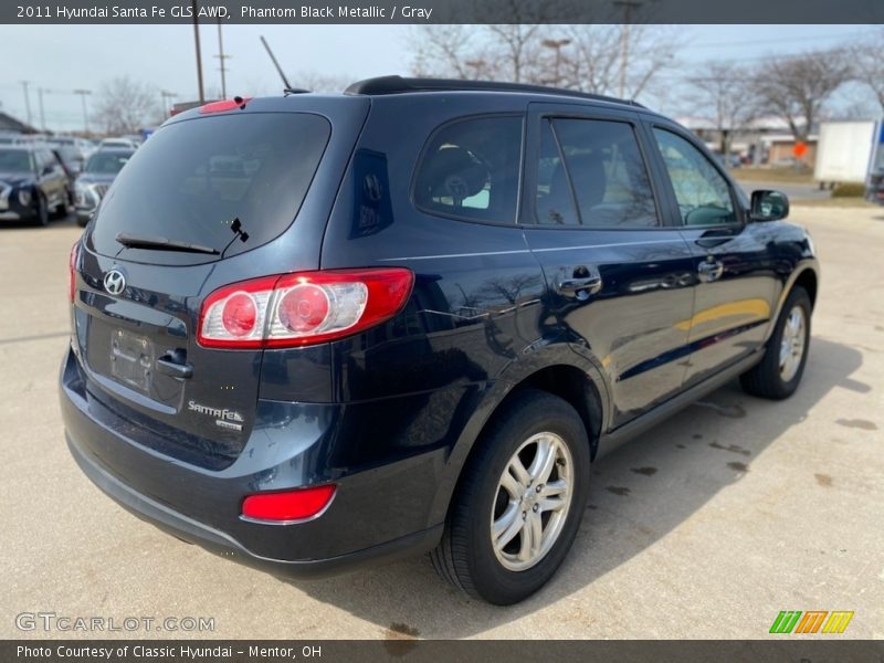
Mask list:
[[[304,113],[201,117],[159,129],[129,159],[102,202],[92,234],[98,253],[168,264],[217,255],[125,249],[118,233],[224,251],[239,219],[245,242],[224,257],[278,236],[292,223],[332,133]]]

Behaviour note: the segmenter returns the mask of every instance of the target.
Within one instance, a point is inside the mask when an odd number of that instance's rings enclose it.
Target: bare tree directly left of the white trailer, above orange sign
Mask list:
[[[760,65],[754,90],[759,109],[782,117],[797,140],[807,140],[825,102],[851,76],[845,51],[812,51]]]

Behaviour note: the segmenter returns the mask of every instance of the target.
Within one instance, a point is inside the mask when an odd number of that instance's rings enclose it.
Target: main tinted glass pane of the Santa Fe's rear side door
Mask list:
[[[651,180],[632,126],[554,119],[580,221],[590,228],[659,225]]]

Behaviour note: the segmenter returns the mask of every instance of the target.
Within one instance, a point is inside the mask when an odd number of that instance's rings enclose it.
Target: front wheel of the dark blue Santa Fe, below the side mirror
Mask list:
[[[794,393],[810,350],[810,312],[808,292],[801,286],[793,287],[782,305],[764,358],[739,377],[746,393],[771,400],[782,400]],[[797,320],[800,322],[798,329]]]

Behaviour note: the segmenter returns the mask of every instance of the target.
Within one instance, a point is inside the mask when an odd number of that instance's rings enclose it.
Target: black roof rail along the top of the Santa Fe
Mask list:
[[[577,92],[573,90],[562,90],[560,87],[547,87],[545,85],[528,85],[525,83],[502,83],[498,81],[465,81],[460,78],[406,78],[402,76],[378,76],[366,78],[351,84],[344,92],[346,94],[401,94],[406,92],[527,92],[535,94],[550,94],[556,96],[578,97],[592,99],[596,102],[610,102],[613,104],[628,104],[644,108],[642,104],[633,99],[620,99],[617,97],[604,96],[601,94],[589,94],[588,92]]]

